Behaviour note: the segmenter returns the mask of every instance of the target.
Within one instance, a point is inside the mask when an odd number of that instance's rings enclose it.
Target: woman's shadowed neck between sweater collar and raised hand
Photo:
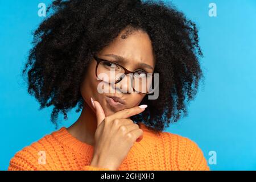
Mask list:
[[[97,129],[97,120],[94,111],[84,102],[80,117],[73,125],[68,127],[68,132],[81,142],[94,145],[94,133]]]

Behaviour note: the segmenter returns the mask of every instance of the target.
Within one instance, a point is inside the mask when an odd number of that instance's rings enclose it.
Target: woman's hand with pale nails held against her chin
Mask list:
[[[134,142],[140,142],[143,138],[143,130],[127,118],[141,113],[147,105],[124,109],[108,117],[105,117],[99,102],[92,100],[92,105],[96,110],[97,129],[94,134],[94,154],[90,165],[117,170]]]

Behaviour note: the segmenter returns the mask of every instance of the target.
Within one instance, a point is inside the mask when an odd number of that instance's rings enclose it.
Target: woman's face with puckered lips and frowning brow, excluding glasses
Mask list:
[[[142,31],[134,31],[125,39],[122,39],[121,36],[124,33],[125,30],[109,46],[98,52],[97,57],[118,63],[129,71],[153,73],[155,60],[148,34]],[[122,57],[122,60],[118,59],[118,57]],[[108,93],[99,93],[98,85],[102,84],[102,81],[97,80],[95,73],[96,65],[97,61],[93,59],[89,64],[84,82],[81,85],[81,95],[88,106],[92,107],[90,104],[90,97],[92,97],[93,100],[100,102],[105,115],[108,116],[119,110],[139,105],[146,96],[143,93],[117,92],[121,89],[128,90],[129,86],[131,86],[128,75],[117,84],[108,84]],[[113,96],[119,98],[114,98]]]

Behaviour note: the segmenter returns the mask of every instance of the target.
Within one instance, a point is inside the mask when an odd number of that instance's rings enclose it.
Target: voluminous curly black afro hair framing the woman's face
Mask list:
[[[35,30],[33,47],[23,68],[28,93],[40,109],[53,106],[51,121],[57,126],[59,113],[83,107],[80,85],[93,55],[129,27],[142,30],[151,39],[159,73],[159,97],[141,104],[148,109],[131,117],[148,129],[163,131],[170,122],[187,115],[186,101],[193,100],[203,73],[196,24],[176,7],[162,1],[69,0],[53,1],[50,15]]]

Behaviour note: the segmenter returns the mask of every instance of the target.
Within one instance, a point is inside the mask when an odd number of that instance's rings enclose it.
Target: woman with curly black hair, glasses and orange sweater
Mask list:
[[[53,106],[56,125],[60,112],[81,114],[17,152],[9,170],[209,170],[195,142],[163,132],[203,76],[195,23],[163,2],[58,0],[49,10],[23,70],[28,93]]]

